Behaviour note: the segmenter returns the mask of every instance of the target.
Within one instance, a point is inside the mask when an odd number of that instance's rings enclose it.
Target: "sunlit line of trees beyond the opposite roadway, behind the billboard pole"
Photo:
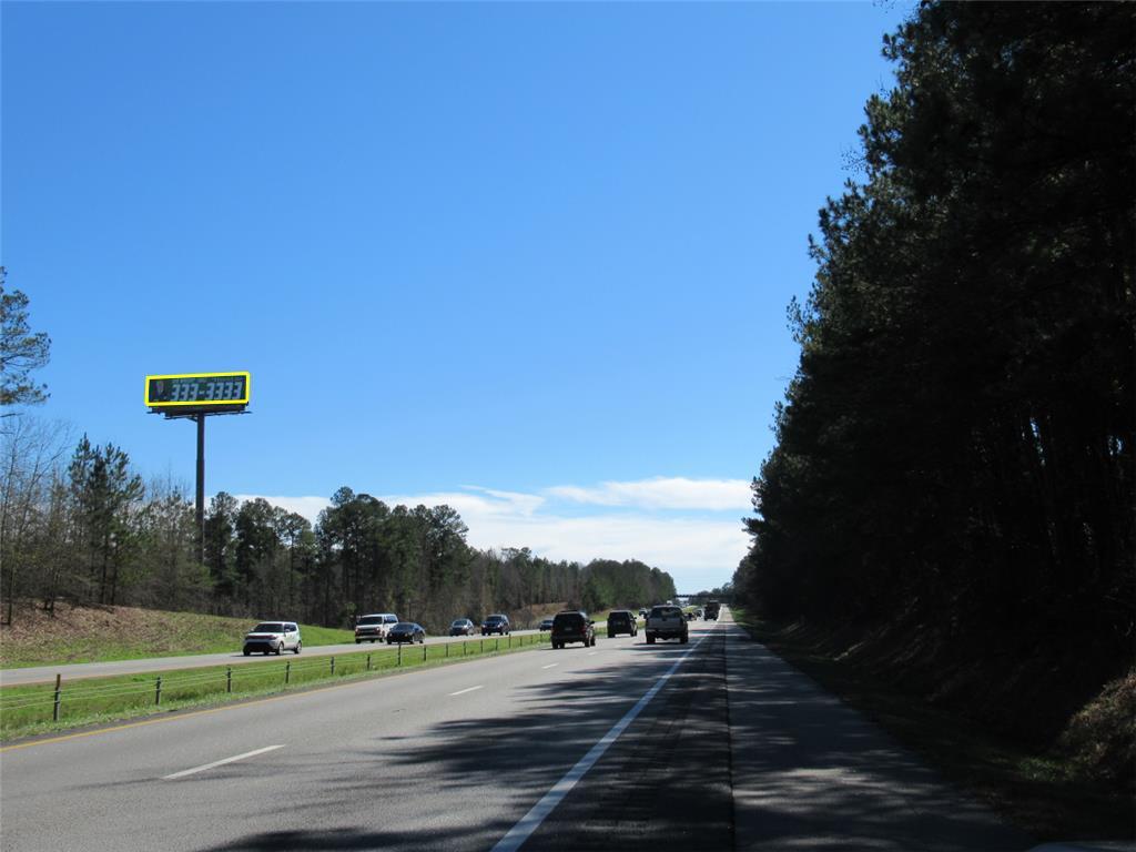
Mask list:
[[[558,603],[590,610],[674,598],[670,575],[636,560],[552,561],[478,550],[451,507],[387,506],[340,488],[316,524],[264,499],[222,492],[197,559],[189,490],[144,482],[128,454],[27,415],[0,428],[0,596],[135,604],[349,626],[390,611],[438,632],[458,617]]]

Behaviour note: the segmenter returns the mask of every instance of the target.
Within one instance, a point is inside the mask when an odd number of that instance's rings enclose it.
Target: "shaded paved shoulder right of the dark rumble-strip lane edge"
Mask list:
[[[742,628],[722,629],[735,849],[1033,845]]]

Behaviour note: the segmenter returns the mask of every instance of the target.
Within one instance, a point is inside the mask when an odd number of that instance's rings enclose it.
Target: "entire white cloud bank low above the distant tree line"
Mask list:
[[[559,496],[574,503],[620,507],[579,516],[556,510]],[[749,483],[742,479],[645,479],[603,483],[594,488],[560,486],[543,494],[465,485],[459,491],[392,494],[379,499],[389,506],[452,507],[469,527],[475,548],[531,548],[554,560],[638,559],[668,571],[679,592],[696,592],[726,583],[749,540],[740,518],[750,508]],[[237,494],[239,500],[253,495]],[[331,504],[327,498],[265,496],[269,503],[295,511],[312,523]],[[626,511],[633,507],[634,511]],[[674,517],[652,510],[729,510],[729,517]]]

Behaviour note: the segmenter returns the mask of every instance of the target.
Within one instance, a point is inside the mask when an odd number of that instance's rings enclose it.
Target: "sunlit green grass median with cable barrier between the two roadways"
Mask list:
[[[434,645],[379,645],[334,657],[292,657],[239,666],[175,669],[64,683],[59,720],[52,720],[55,685],[0,690],[0,741],[135,719],[186,708],[273,695],[289,690],[457,663],[493,654],[548,648],[549,635],[485,637]],[[401,648],[401,658],[400,658]],[[229,671],[232,673],[229,675]],[[161,678],[158,703],[157,684]],[[286,682],[286,683],[285,683]]]

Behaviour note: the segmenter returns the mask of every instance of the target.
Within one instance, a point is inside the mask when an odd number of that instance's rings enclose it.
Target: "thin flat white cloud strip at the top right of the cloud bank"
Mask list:
[[[643,509],[705,509],[747,511],[750,483],[745,479],[686,479],[655,477],[635,482],[605,482],[596,487],[558,485],[549,494],[576,503],[633,506]]]

